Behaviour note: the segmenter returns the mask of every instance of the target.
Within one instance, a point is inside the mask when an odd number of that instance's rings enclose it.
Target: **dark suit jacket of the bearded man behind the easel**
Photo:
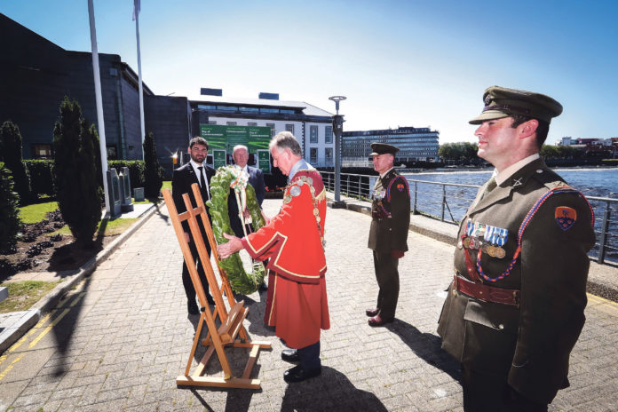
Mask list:
[[[212,178],[215,175],[215,170],[212,169],[210,166],[207,166],[206,164],[204,164],[204,171],[206,173],[206,180],[208,181],[208,184],[210,186],[210,178]],[[183,194],[188,193],[189,197],[191,198],[191,205],[194,208],[197,207],[197,202],[195,202],[195,196],[193,194],[193,190],[191,190],[191,185],[193,185],[194,183],[197,183],[199,185],[200,184],[199,178],[200,177],[195,174],[194,168],[193,166],[191,166],[190,162],[174,170],[172,177],[171,177],[171,197],[174,199],[174,204],[176,205],[176,210],[178,210],[178,214],[186,211],[185,201],[182,199]],[[201,188],[201,192],[202,192],[202,199],[205,203],[206,201],[210,199],[208,196],[208,192],[206,191],[205,188],[203,189]],[[208,210],[208,207],[206,208],[206,212],[208,214],[209,220],[211,221],[210,212]],[[204,237],[204,242],[208,245],[208,240],[205,237],[206,231],[202,225],[202,220],[197,219],[197,222],[200,226],[202,237]],[[182,228],[186,233],[191,235],[191,230],[189,229],[188,222],[186,221],[182,222]]]

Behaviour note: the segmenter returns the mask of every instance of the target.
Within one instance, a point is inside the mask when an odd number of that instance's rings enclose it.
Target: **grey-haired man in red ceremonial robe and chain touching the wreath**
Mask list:
[[[281,359],[299,362],[283,379],[301,382],[321,374],[320,329],[330,328],[324,281],[326,190],[289,131],[278,133],[269,147],[274,166],[288,176],[281,211],[242,239],[224,234],[229,242],[217,250],[221,258],[245,249],[251,258],[269,259],[264,321],[292,348],[284,350]]]

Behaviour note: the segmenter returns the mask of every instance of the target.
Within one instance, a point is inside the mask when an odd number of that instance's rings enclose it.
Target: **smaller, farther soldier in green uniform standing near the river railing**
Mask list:
[[[367,309],[369,326],[383,326],[395,319],[399,298],[399,259],[408,250],[410,191],[406,178],[392,167],[399,148],[372,143],[374,169],[380,173],[372,194],[368,247],[373,250],[380,291],[376,308]]]

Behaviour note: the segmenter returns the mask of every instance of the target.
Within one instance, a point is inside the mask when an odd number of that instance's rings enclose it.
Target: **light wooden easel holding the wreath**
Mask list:
[[[180,250],[182,250],[182,255],[185,258],[186,266],[189,269],[191,281],[193,281],[195,291],[197,292],[197,298],[200,301],[201,306],[200,321],[197,325],[197,329],[195,330],[194,343],[191,348],[189,360],[186,363],[185,375],[178,376],[176,378],[176,384],[177,386],[217,386],[223,388],[259,389],[259,379],[250,379],[249,376],[251,369],[258,360],[259,350],[270,349],[271,344],[270,342],[252,342],[249,340],[247,331],[242,326],[242,321],[244,321],[245,317],[247,317],[249,309],[244,307],[244,301],[236,302],[234,300],[234,294],[232,293],[230,282],[227,279],[225,271],[221,268],[221,265],[219,265],[220,258],[217,252],[217,242],[215,242],[215,236],[212,234],[212,227],[210,226],[210,221],[208,219],[208,215],[206,214],[206,206],[202,200],[202,194],[200,194],[200,186],[198,186],[197,183],[194,183],[191,188],[195,196],[195,202],[197,202],[197,207],[192,207],[189,194],[183,194],[182,197],[185,201],[186,212],[180,213],[179,215],[176,210],[176,205],[171,197],[170,189],[162,190],[163,199],[165,199],[165,204],[170,212],[171,224],[174,226],[174,231],[178,237],[178,243],[180,243]],[[218,273],[221,278],[220,289],[215,273],[210,265],[210,257],[208,256],[208,251],[206,250],[204,240],[202,239],[202,233],[200,232],[200,227],[197,223],[198,217],[202,218],[202,224],[206,229],[208,242],[210,242],[210,249],[212,250],[215,261],[217,262]],[[210,306],[206,300],[206,293],[202,288],[202,282],[200,281],[200,276],[198,275],[194,264],[194,256],[192,256],[191,250],[189,250],[189,245],[185,240],[185,233],[181,225],[181,222],[184,221],[188,222],[189,228],[191,229],[195,247],[202,262],[204,272],[206,273],[206,279],[208,280],[212,297],[215,299],[216,305],[212,313],[210,313]],[[227,301],[230,305],[229,312],[226,310],[222,291],[226,292]],[[221,321],[221,325],[218,328],[215,323],[217,316]],[[202,345],[208,346],[208,349],[206,350],[206,353],[204,353],[200,364],[197,368],[195,368],[194,374],[189,375],[195,350],[197,349],[197,344],[200,340],[204,321],[206,322],[209,332],[206,338],[202,339]],[[225,349],[228,346],[251,348],[249,360],[247,361],[247,365],[245,366],[241,377],[234,377],[232,373],[232,369],[227,361],[225,352]],[[224,376],[202,376],[204,374],[206,364],[214,352],[217,352],[218,360],[221,364],[221,368],[223,368]]]

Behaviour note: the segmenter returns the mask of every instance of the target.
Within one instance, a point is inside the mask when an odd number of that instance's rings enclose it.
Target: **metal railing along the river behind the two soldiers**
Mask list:
[[[321,171],[329,192],[335,190],[335,173]],[[413,214],[459,225],[480,186],[431,182],[406,177]],[[341,194],[369,202],[376,176],[341,173]],[[595,214],[597,242],[590,257],[598,263],[618,263],[618,199],[586,196]]]

